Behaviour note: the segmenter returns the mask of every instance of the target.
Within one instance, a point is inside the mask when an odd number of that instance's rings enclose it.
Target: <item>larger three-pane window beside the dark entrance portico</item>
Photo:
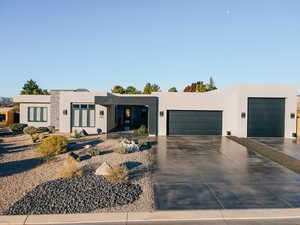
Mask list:
[[[95,105],[73,104],[72,115],[73,127],[95,126]]]

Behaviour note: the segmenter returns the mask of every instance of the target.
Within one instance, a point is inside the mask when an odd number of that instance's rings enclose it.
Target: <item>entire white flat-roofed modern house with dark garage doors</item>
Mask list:
[[[19,95],[20,122],[88,133],[148,128],[150,135],[235,135],[293,137],[296,88],[239,85],[205,93],[155,92],[120,95],[87,90],[53,90]]]

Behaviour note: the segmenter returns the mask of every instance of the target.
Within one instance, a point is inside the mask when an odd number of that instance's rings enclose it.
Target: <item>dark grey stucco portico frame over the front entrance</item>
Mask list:
[[[148,106],[149,134],[158,133],[158,97],[155,96],[95,96],[95,103],[100,105],[144,105]]]

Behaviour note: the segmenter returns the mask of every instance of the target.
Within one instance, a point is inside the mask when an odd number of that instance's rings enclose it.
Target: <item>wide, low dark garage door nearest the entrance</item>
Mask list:
[[[168,135],[222,135],[222,111],[169,110]]]

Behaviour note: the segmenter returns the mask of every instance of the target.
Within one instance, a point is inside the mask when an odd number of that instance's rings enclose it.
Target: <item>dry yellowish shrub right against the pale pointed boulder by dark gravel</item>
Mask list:
[[[115,165],[107,170],[106,179],[113,184],[124,183],[128,181],[128,169],[123,165]]]

